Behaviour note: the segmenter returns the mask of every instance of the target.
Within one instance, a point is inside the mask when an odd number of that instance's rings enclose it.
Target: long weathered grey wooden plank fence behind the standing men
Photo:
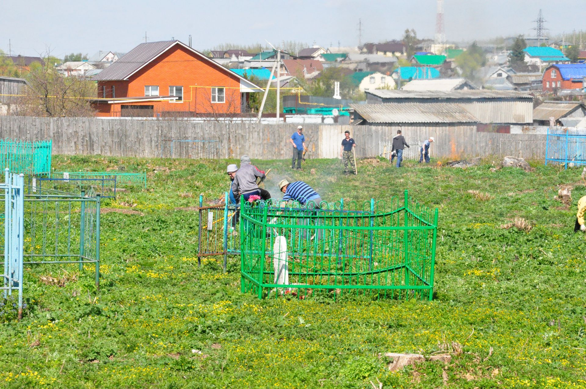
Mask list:
[[[356,140],[356,156],[377,156],[380,143],[390,141],[397,129],[410,139],[434,137],[431,154],[461,159],[471,156],[514,155],[544,158],[546,136],[477,132],[474,126],[404,125],[374,127],[353,125],[304,125],[309,158],[336,158],[344,131]],[[216,158],[291,158],[291,134],[297,124],[195,123],[185,120],[125,120],[103,118],[36,118],[0,116],[0,138],[53,139],[53,153],[160,157],[166,139],[213,140]],[[189,145],[189,142],[185,142]],[[418,145],[414,145],[418,148]],[[174,156],[196,158],[189,147]],[[206,153],[210,155],[210,153]]]

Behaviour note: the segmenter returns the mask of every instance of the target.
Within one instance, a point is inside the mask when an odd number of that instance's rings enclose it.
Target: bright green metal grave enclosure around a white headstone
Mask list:
[[[432,299],[438,210],[408,198],[243,203],[241,290]]]

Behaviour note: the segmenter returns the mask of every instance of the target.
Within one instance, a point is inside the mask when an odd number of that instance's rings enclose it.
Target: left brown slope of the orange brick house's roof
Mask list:
[[[178,40],[161,40],[159,42],[141,43],[130,50],[124,57],[108,66],[100,74],[92,77],[94,81],[125,80],[132,73],[140,69],[156,56],[164,52],[167,47]]]

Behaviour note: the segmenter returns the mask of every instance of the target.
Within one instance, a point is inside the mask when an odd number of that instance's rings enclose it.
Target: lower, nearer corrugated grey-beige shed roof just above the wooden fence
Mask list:
[[[350,104],[369,123],[476,123],[478,119],[453,103]]]

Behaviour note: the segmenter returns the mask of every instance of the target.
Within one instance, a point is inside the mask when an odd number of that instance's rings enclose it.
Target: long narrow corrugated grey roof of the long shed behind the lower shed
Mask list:
[[[496,90],[452,90],[452,91],[410,91],[410,90],[369,90],[366,93],[380,98],[530,98],[531,95],[516,91]]]

